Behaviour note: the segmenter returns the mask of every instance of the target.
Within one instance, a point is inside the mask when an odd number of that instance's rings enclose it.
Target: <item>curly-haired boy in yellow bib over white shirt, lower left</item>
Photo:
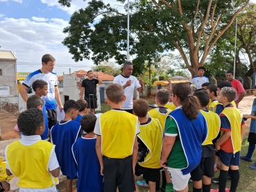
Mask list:
[[[6,147],[6,173],[19,177],[19,192],[56,192],[54,177],[60,175],[55,146],[41,140],[44,114],[38,109],[22,112],[17,119],[22,139]]]

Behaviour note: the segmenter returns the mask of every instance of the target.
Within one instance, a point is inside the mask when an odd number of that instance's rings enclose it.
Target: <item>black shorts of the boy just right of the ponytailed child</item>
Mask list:
[[[206,177],[214,177],[214,157],[202,157],[200,164],[190,173],[191,180],[198,182]]]

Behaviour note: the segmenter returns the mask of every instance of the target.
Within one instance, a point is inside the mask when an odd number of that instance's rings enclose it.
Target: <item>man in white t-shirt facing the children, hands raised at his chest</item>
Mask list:
[[[123,101],[123,110],[133,114],[133,91],[137,89],[139,93],[143,92],[143,80],[135,78],[133,74],[133,63],[126,61],[123,63],[123,73],[114,78],[113,83],[123,87],[126,101]]]

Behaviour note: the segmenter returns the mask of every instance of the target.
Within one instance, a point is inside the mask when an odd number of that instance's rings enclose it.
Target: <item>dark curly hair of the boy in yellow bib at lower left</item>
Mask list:
[[[44,114],[41,110],[31,108],[19,115],[17,124],[19,131],[26,136],[34,135],[40,126],[44,125]]]

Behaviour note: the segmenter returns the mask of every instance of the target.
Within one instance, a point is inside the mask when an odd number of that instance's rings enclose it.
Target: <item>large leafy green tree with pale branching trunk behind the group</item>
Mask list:
[[[72,0],[59,0],[71,6]],[[124,0],[117,0],[125,3]],[[192,76],[203,66],[207,55],[234,18],[250,0],[137,0],[130,2],[130,54],[135,62],[156,58],[159,53],[177,49]],[[99,19],[99,15],[101,18]],[[96,20],[98,19],[98,20]],[[85,9],[71,16],[68,36],[62,42],[74,60],[90,59],[95,64],[115,58],[126,60],[127,15],[102,0],[88,1]],[[94,28],[92,28],[94,26]],[[90,53],[92,57],[90,57]],[[187,54],[189,53],[189,57]]]

